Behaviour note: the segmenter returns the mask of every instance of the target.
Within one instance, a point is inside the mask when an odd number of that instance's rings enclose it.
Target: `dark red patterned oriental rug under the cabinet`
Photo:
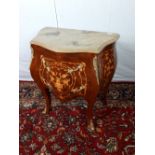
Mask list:
[[[96,131],[86,129],[87,103],[78,98],[42,114],[45,99],[34,82],[20,82],[20,155],[134,155],[134,83],[112,83],[107,105],[94,106]],[[52,93],[51,93],[52,94]]]

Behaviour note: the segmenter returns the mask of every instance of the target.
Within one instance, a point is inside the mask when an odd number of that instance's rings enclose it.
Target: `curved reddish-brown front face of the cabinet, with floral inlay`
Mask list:
[[[61,101],[75,97],[88,99],[98,92],[95,54],[57,53],[36,45],[32,48],[34,56],[30,71],[33,79],[39,85],[50,87]]]

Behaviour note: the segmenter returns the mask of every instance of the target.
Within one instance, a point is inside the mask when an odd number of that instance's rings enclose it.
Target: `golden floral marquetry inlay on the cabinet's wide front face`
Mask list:
[[[39,75],[43,83],[52,87],[61,100],[84,96],[87,90],[87,76],[84,62],[56,61],[40,57]]]

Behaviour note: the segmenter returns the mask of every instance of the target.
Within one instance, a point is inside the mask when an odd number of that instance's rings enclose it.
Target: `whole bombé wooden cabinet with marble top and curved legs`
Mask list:
[[[94,130],[93,105],[99,93],[106,102],[116,68],[115,44],[119,35],[94,31],[44,28],[31,41],[31,76],[51,108],[49,89],[61,101],[83,97],[88,129]]]

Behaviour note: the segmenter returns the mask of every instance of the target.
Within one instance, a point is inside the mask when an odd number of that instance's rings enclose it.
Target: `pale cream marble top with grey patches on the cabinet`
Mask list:
[[[46,27],[31,41],[48,50],[63,53],[99,53],[118,40],[116,33]]]

